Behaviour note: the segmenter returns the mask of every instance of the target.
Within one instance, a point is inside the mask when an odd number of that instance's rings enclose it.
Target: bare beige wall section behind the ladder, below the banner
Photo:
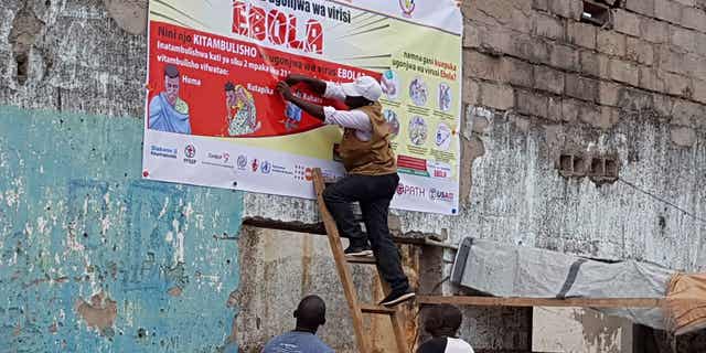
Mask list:
[[[308,295],[318,295],[327,303],[327,323],[319,336],[335,352],[357,352],[347,302],[327,237],[246,227],[240,235],[239,252],[244,265],[242,286],[234,299],[243,310],[236,320],[235,336],[244,352],[260,352],[272,336],[292,330],[292,312]],[[413,282],[418,278],[419,267],[414,252],[405,249],[404,264]],[[376,271],[370,265],[354,265],[352,274],[361,301],[377,302],[384,298]],[[410,304],[404,308],[410,345],[416,333],[414,310]],[[366,315],[366,320],[373,352],[395,352],[389,319]]]

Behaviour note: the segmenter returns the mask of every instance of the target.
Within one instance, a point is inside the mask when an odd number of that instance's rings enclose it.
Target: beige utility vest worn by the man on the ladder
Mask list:
[[[355,136],[355,129],[344,129],[339,153],[345,170],[349,174],[359,175],[396,173],[397,161],[389,146],[392,127],[383,116],[383,106],[376,101],[356,109],[370,117],[373,133],[368,141],[361,141]]]

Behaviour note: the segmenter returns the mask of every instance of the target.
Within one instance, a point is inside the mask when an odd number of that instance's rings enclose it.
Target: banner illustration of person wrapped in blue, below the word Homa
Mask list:
[[[179,97],[181,75],[174,65],[164,67],[164,90],[152,97],[149,125],[152,130],[191,135],[189,105]]]

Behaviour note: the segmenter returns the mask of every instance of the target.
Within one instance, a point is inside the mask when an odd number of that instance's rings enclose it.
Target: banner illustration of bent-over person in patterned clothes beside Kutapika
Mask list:
[[[253,95],[242,85],[225,84],[226,121],[225,136],[240,136],[256,132],[261,124],[257,121],[257,110]]]

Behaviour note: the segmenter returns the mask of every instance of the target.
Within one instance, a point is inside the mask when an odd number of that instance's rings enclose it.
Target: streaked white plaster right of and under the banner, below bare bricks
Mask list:
[[[689,130],[689,146],[672,143],[670,126],[650,111],[623,113],[606,131],[484,108],[469,109],[466,121],[464,138],[479,154],[472,184],[462,188],[470,189],[461,195],[469,201],[458,216],[395,211],[402,235],[448,229],[450,243],[474,236],[684,270],[706,266],[706,223],[641,192],[706,214],[703,132]],[[621,181],[598,186],[589,178],[561,176],[555,167],[563,151],[618,156],[621,178],[641,191]],[[317,221],[313,203],[281,196],[249,194],[245,210],[246,217]]]

